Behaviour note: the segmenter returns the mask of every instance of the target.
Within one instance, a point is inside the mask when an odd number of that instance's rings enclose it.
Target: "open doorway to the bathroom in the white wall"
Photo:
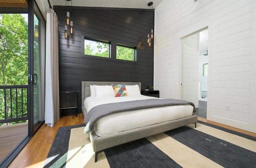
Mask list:
[[[206,118],[207,70],[208,29],[204,28],[181,39],[180,71],[180,98],[193,102],[197,111],[203,111],[199,115],[203,118]]]

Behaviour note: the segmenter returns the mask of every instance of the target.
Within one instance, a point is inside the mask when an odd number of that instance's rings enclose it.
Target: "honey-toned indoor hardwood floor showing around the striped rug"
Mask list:
[[[47,154],[50,151],[52,142],[58,131],[58,128],[62,126],[71,126],[76,124],[83,124],[83,114],[78,114],[76,116],[63,116],[58,122],[56,122],[54,128],[47,127],[43,125],[38,132],[32,137],[16,159],[10,164],[10,168],[21,168],[21,167],[36,167],[41,168],[44,166],[44,161],[46,160]],[[224,128],[235,130],[244,134],[249,134],[256,137],[255,133],[247,132],[230,126],[225,126],[222,124],[210,122],[204,118],[198,117],[198,120],[203,122],[208,122],[210,124],[216,124]]]

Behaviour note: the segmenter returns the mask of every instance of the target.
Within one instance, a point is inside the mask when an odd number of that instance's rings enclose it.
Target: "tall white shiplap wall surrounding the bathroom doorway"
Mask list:
[[[256,132],[256,0],[164,0],[155,17],[161,98],[180,98],[180,39],[208,27],[207,119]]]

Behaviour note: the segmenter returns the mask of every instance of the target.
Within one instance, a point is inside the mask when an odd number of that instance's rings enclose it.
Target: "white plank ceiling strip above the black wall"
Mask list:
[[[45,0],[47,2],[47,0]],[[70,0],[69,6],[154,9],[164,0]],[[66,0],[50,0],[52,6],[66,6]],[[148,6],[148,2],[153,2]]]

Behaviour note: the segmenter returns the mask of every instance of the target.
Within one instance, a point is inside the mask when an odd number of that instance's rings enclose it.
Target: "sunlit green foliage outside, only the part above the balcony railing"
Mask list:
[[[28,23],[21,14],[0,17],[0,85],[28,84]]]

